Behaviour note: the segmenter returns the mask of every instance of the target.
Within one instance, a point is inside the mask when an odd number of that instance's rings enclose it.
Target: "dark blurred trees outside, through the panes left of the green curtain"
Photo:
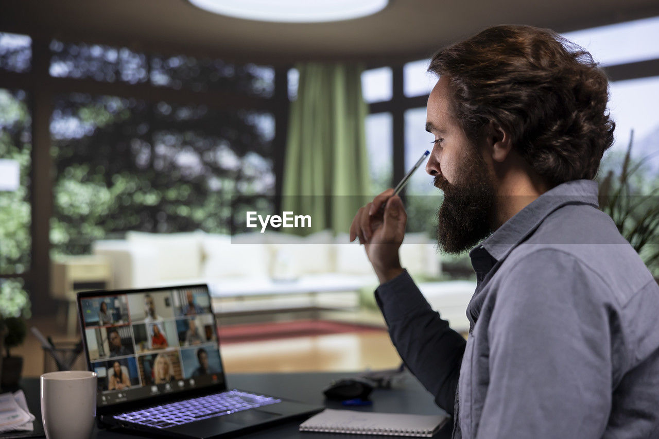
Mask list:
[[[272,96],[266,67],[51,44],[53,76]],[[240,231],[244,212],[271,213],[274,117],[268,111],[67,94],[51,118],[56,177],[53,256],[86,254],[129,230]],[[242,224],[242,226],[241,226]]]

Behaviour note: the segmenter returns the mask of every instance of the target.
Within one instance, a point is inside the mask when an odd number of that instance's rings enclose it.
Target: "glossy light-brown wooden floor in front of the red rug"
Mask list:
[[[343,314],[341,318],[353,322],[382,322],[379,314]],[[75,340],[67,337],[65,325],[55,318],[33,318],[28,321],[28,328],[31,326],[51,336],[55,343]],[[221,349],[225,370],[229,373],[377,370],[395,368],[401,363],[386,331],[230,343]],[[23,376],[40,376],[44,372],[43,351],[29,332],[24,344],[13,349],[12,355],[23,357]]]

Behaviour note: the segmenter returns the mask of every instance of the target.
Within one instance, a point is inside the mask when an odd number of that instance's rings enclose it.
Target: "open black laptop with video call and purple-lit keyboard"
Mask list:
[[[227,386],[207,285],[78,293],[100,426],[221,438],[324,407]]]

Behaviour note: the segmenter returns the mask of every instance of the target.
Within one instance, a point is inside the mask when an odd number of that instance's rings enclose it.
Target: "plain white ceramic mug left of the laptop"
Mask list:
[[[89,439],[96,421],[96,372],[67,370],[41,376],[47,439]]]

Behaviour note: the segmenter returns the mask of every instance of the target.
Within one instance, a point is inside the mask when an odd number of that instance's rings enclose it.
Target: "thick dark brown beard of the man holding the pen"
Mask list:
[[[444,191],[437,212],[437,242],[443,252],[451,254],[469,250],[488,237],[494,218],[494,185],[485,160],[474,148],[461,167],[462,175],[455,184],[441,175],[434,179],[434,185]]]

